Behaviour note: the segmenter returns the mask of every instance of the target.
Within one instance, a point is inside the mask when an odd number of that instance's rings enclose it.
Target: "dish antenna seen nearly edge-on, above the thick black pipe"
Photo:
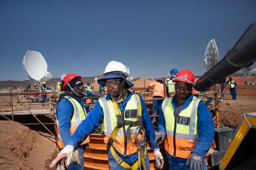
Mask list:
[[[208,43],[205,50],[205,55],[204,55],[204,64],[207,71],[210,70],[211,67],[213,67],[215,64],[217,64],[218,61],[219,61],[219,50],[217,48],[215,40],[212,39]]]

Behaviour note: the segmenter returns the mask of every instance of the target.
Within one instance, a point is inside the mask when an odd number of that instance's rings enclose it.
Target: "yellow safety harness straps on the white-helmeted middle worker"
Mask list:
[[[146,168],[146,163],[145,163],[145,160],[146,160],[145,129],[143,129],[140,98],[139,98],[138,95],[136,95],[136,97],[138,99],[138,117],[139,117],[139,121],[127,121],[127,120],[124,120],[122,118],[121,111],[120,111],[120,109],[118,107],[118,104],[116,103],[116,101],[112,101],[113,105],[114,105],[116,117],[117,117],[117,125],[116,125],[115,129],[111,133],[111,137],[110,137],[110,139],[108,141],[108,146],[107,146],[107,150],[110,150],[112,156],[115,158],[116,163],[118,165],[121,165],[125,169],[132,169],[132,170],[135,170],[135,169],[138,169],[138,168],[142,169],[141,165],[142,165],[143,169]],[[131,141],[132,140],[131,139],[130,127],[138,126],[139,125],[139,128],[137,129],[137,132],[135,134],[135,140],[136,140],[136,142],[138,144],[138,147],[139,147],[139,149],[138,149],[138,160],[133,165],[131,165],[131,166],[129,164],[127,164],[126,162],[124,162],[124,160],[117,155],[117,153],[116,153],[116,151],[115,151],[115,149],[113,147],[113,142],[116,139],[116,135],[117,135],[119,129],[123,127],[123,129],[125,130],[125,125],[129,126],[127,128],[127,130],[126,130],[127,141]],[[139,133],[142,134],[142,137],[141,137],[140,141],[137,138]]]

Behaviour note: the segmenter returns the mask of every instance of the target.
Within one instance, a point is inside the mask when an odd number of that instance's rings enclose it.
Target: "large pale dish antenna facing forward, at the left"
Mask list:
[[[47,63],[40,52],[28,50],[23,57],[22,65],[29,80],[41,84],[52,78],[52,74],[47,71]]]

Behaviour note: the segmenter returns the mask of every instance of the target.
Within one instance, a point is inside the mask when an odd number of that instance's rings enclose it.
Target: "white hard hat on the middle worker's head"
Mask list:
[[[116,62],[116,61],[109,62],[108,65],[106,66],[104,73],[106,74],[113,71],[122,72],[126,78],[129,77],[130,75],[129,67],[125,66],[123,63]]]

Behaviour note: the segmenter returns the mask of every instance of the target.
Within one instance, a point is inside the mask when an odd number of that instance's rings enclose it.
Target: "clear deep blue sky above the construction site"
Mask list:
[[[97,76],[112,60],[134,78],[165,77],[172,68],[202,75],[209,41],[221,59],[256,21],[255,8],[253,0],[1,1],[0,80],[27,80],[27,50],[43,54],[53,77]]]

